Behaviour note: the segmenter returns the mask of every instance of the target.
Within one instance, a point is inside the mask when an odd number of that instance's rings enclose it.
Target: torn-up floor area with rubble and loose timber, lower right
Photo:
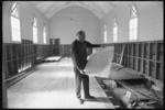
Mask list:
[[[132,69],[112,64],[109,78],[96,78],[120,102],[120,108],[163,109],[163,87]]]

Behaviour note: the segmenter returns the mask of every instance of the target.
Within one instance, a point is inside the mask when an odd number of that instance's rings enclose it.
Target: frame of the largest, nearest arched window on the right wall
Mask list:
[[[134,11],[134,9],[135,9],[135,11]],[[132,12],[135,13],[135,16],[132,16]],[[130,25],[131,25],[130,22],[131,22],[131,20],[134,20],[134,19],[138,19],[138,21],[136,21],[138,22],[136,23],[136,30],[135,29],[130,29]],[[139,14],[138,8],[136,8],[135,4],[131,4],[130,6],[130,20],[129,20],[129,41],[130,42],[136,42],[136,41],[139,41],[139,25],[140,25],[140,14]],[[134,36],[131,37],[130,34],[131,34],[132,30],[136,31],[136,37],[134,37]]]

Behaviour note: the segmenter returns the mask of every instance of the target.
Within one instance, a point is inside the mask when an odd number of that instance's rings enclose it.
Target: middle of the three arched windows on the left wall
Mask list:
[[[37,20],[33,19],[33,43],[37,43]]]

